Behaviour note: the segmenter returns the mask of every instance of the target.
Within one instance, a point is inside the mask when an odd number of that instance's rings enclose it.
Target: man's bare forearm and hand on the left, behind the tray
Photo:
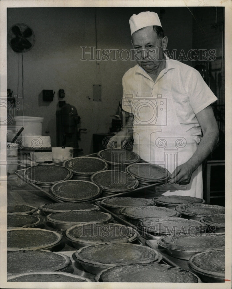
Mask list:
[[[133,115],[129,113],[129,118],[126,121],[126,125],[109,140],[107,148],[121,149],[121,143],[124,140],[130,140],[133,137],[132,128],[133,128]]]

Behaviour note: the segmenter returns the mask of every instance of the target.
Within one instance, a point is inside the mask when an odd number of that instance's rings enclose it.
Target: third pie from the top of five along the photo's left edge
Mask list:
[[[53,249],[62,242],[55,231],[38,228],[10,229],[7,231],[7,250]]]

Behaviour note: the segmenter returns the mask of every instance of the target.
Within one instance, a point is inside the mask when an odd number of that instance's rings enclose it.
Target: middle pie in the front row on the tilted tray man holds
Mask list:
[[[101,171],[93,174],[90,179],[102,190],[111,193],[128,192],[139,185],[137,179],[123,171]]]

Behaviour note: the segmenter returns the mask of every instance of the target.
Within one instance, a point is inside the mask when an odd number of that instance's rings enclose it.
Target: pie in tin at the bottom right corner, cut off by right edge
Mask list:
[[[225,250],[211,250],[193,255],[188,261],[189,268],[202,281],[225,282]]]

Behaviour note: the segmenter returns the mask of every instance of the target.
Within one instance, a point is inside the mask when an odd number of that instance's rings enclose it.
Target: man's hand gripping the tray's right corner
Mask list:
[[[169,179],[169,182],[170,184],[175,183],[180,185],[187,185],[190,183],[193,172],[193,167],[188,162],[185,162],[184,164],[176,167]]]

